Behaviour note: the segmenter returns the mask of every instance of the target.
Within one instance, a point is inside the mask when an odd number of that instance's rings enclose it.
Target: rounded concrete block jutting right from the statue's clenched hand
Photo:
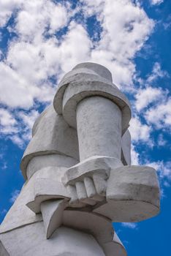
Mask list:
[[[107,203],[94,209],[113,222],[140,222],[159,214],[156,170],[145,166],[118,167],[107,181]]]

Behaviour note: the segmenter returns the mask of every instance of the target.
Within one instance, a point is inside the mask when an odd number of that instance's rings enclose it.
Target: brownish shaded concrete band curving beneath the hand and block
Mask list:
[[[77,222],[75,222],[77,216]],[[64,225],[91,233],[102,246],[106,256],[126,256],[126,250],[109,219],[88,211],[64,211]],[[118,254],[117,254],[118,253]]]

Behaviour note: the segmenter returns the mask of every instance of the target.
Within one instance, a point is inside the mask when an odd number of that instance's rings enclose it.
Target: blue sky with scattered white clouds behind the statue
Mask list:
[[[129,255],[169,255],[170,45],[170,0],[0,0],[0,222],[34,120],[66,72],[94,61],[132,103],[132,164],[155,167],[161,186],[158,217],[115,230]]]

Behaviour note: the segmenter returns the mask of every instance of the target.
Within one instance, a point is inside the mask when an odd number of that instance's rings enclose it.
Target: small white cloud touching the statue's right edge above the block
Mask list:
[[[148,143],[150,142],[151,127],[148,127],[147,124],[142,124],[137,116],[132,117],[129,131],[133,141],[137,142],[141,140]]]

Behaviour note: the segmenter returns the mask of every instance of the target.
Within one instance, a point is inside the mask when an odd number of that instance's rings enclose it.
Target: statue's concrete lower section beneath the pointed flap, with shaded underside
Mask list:
[[[126,251],[114,233],[111,222],[96,214],[64,211],[62,226],[48,240],[44,228],[43,222],[26,225],[1,234],[1,241],[11,256],[58,256],[68,255],[68,253],[73,256],[113,256],[115,252],[126,256]]]

